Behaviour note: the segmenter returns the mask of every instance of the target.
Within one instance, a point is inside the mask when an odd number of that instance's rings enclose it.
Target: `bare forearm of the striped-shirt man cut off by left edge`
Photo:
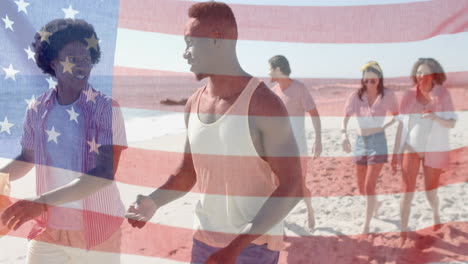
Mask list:
[[[18,157],[0,168],[0,172],[9,174],[10,180],[14,181],[26,175],[33,167],[34,150],[23,148]]]

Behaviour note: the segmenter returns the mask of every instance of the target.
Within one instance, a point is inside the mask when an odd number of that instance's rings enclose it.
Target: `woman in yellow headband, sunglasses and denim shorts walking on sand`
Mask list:
[[[398,103],[395,93],[384,87],[382,69],[377,62],[371,61],[361,70],[361,88],[346,101],[341,132],[343,150],[351,152],[346,128],[350,117],[355,115],[359,129],[353,148],[353,161],[356,163],[359,193],[367,197],[366,219],[362,231],[367,234],[372,216],[377,210],[377,178],[387,162],[385,129],[394,123],[394,119],[386,124],[384,122],[388,113],[397,114]]]

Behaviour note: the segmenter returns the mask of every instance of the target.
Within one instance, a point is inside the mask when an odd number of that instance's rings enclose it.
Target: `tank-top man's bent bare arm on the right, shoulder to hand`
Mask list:
[[[266,86],[259,87],[252,97],[249,115],[261,134],[261,155],[276,174],[278,187],[261,207],[250,229],[229,245],[238,252],[283,220],[302,196],[299,151],[283,103]]]

